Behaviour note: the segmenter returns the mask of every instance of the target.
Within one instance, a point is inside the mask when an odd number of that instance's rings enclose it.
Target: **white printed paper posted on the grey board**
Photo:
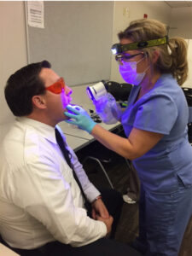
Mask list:
[[[28,25],[44,28],[44,2],[27,1]]]

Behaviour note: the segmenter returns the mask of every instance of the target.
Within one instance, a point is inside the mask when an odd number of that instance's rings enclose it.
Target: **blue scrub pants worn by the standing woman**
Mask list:
[[[192,185],[178,180],[172,193],[148,192],[141,184],[139,237],[133,243],[146,256],[177,256],[192,215]]]

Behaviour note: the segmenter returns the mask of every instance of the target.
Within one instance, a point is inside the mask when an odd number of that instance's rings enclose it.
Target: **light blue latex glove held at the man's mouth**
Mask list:
[[[90,118],[90,115],[84,110],[84,108],[79,106],[73,106],[72,108],[70,105],[67,105],[66,108],[70,113],[64,113],[70,119],[65,120],[65,122],[72,125],[78,125],[80,129],[88,131],[89,133],[93,130],[96,123]]]

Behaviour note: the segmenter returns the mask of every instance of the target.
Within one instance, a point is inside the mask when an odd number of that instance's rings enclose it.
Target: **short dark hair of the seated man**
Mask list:
[[[32,96],[45,93],[44,82],[39,78],[43,67],[50,68],[49,61],[29,64],[9,77],[4,95],[15,116],[26,116],[32,113]]]

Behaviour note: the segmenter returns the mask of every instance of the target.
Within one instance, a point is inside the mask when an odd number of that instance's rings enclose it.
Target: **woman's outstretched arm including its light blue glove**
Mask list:
[[[69,120],[66,120],[67,123],[78,125],[79,128],[88,131],[105,147],[130,160],[134,160],[143,154],[146,154],[148,150],[153,148],[163,137],[163,134],[152,131],[143,131],[137,128],[132,129],[128,138],[119,137],[118,135],[103,129],[102,126],[97,125],[83,108],[79,107],[79,109],[73,109],[67,107],[67,109],[74,113],[65,112],[65,115],[70,118]]]

